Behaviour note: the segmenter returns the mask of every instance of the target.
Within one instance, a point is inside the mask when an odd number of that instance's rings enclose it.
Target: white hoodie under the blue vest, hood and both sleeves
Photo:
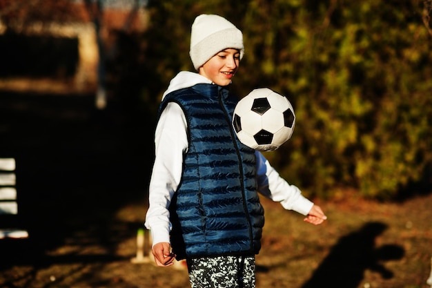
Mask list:
[[[162,99],[169,93],[196,84],[212,84],[198,73],[182,71],[171,81]],[[150,178],[149,207],[146,228],[151,229],[153,244],[170,242],[170,213],[168,207],[181,180],[183,154],[188,151],[186,117],[180,106],[170,102],[159,117],[155,131],[155,163]],[[307,215],[313,202],[304,198],[301,191],[288,184],[268,163],[264,155],[257,156],[258,192],[287,210]]]

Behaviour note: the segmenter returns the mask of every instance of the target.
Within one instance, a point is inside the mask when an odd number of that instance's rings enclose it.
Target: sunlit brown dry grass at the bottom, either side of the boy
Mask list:
[[[318,227],[279,204],[265,199],[263,204],[266,227],[257,256],[257,287],[429,287],[432,195],[401,204],[320,202],[328,221]],[[118,223],[141,220],[144,206],[123,207]],[[115,224],[110,230],[116,230]],[[128,232],[112,251],[70,238],[39,262],[28,259],[5,267],[0,287],[188,287],[185,270],[132,264],[135,231]]]

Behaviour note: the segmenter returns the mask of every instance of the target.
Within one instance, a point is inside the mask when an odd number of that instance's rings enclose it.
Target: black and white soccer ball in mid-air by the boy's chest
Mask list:
[[[294,109],[269,88],[257,88],[234,109],[233,128],[240,142],[259,151],[273,151],[293,135]]]

